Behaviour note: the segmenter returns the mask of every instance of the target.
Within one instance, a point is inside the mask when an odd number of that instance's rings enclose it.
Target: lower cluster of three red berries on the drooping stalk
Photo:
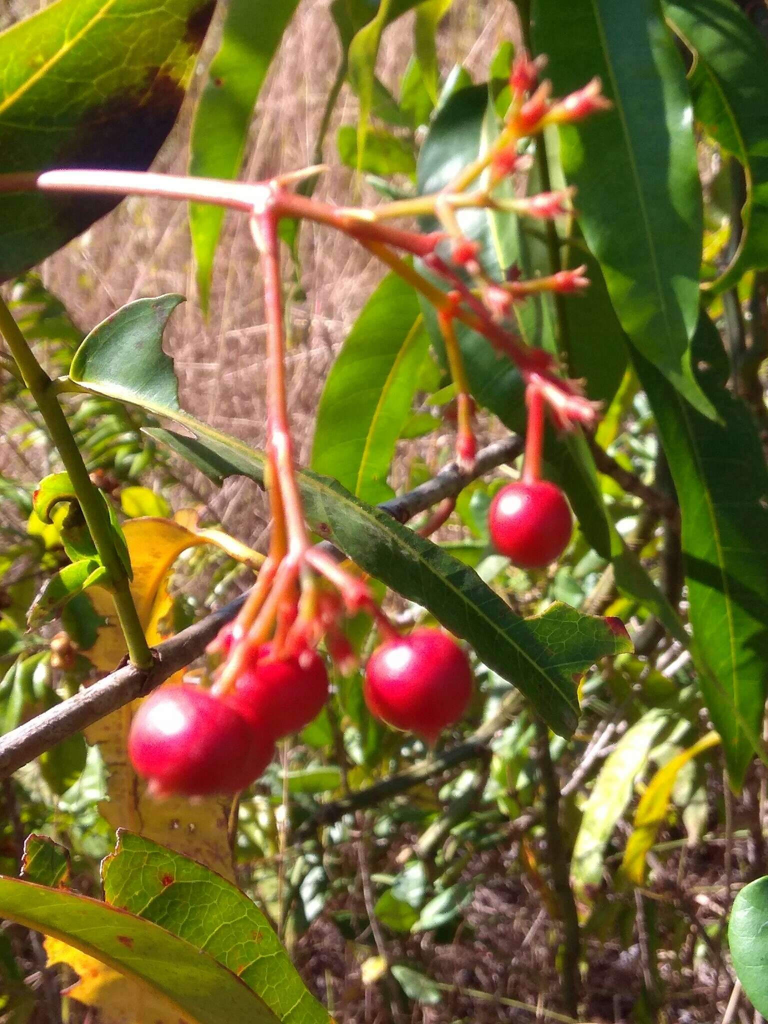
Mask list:
[[[305,647],[278,657],[263,644],[226,693],[181,683],[147,697],[133,719],[128,753],[155,796],[236,793],[262,774],[275,740],[319,714],[328,691],[316,651]],[[371,712],[430,742],[461,718],[471,695],[467,655],[441,630],[420,628],[385,640],[366,669]]]

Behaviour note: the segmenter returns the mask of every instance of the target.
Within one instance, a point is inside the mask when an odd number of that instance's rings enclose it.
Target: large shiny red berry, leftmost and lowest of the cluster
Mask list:
[[[128,736],[131,763],[156,796],[236,793],[261,775],[273,749],[268,730],[189,683],[152,693]]]

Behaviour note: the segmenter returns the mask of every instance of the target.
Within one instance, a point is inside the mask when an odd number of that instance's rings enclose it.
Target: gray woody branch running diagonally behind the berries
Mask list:
[[[488,444],[478,453],[472,472],[462,472],[455,463],[445,466],[431,480],[408,494],[384,502],[380,507],[404,523],[419,512],[454,495],[468,483],[519,456],[523,441],[510,436]],[[126,665],[62,700],[17,729],[0,737],[0,778],[50,750],[56,743],[97,722],[113,711],[147,694],[155,687],[199,657],[218,631],[238,613],[245,597],[227,604],[153,651],[155,664],[148,671]]]

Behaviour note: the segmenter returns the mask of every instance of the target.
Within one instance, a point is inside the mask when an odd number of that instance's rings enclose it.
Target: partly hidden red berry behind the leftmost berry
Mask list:
[[[328,699],[328,672],[316,651],[295,657],[271,656],[262,644],[257,658],[239,676],[223,699],[247,718],[268,722],[275,739],[299,732],[316,718]]]

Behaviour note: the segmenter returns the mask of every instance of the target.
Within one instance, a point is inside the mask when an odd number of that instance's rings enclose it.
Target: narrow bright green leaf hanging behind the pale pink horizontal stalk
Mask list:
[[[243,164],[254,106],[298,0],[230,0],[216,56],[211,61],[191,129],[189,173],[236,178]],[[189,229],[198,291],[208,307],[213,259],[224,211],[193,204]]]

